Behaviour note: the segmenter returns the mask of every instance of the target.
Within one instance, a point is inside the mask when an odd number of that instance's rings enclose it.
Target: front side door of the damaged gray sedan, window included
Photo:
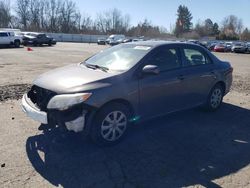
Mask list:
[[[154,50],[145,65],[157,65],[157,75],[143,74],[139,79],[139,111],[143,118],[158,116],[182,108],[182,63],[176,46]]]

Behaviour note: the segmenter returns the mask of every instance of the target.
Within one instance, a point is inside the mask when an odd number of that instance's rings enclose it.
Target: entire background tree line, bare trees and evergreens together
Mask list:
[[[10,0],[0,0],[0,28],[13,27],[24,31],[81,33],[81,34],[125,34],[128,36],[178,38],[214,37],[217,39],[250,40],[250,31],[244,28],[242,20],[234,15],[227,16],[219,26],[207,18],[195,25],[188,7],[180,5],[173,32],[153,25],[144,19],[131,26],[128,14],[118,9],[98,13],[95,19],[81,13],[72,0],[16,0],[13,7]]]

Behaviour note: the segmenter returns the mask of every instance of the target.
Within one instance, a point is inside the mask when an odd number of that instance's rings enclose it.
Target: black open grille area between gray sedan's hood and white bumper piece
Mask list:
[[[33,85],[28,92],[30,100],[42,110],[47,111],[47,105],[52,97],[56,95],[55,92]]]

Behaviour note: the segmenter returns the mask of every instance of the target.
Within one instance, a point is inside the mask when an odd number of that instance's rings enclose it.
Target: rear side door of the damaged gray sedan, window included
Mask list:
[[[206,102],[216,81],[215,64],[199,46],[183,45],[183,88],[187,107]]]

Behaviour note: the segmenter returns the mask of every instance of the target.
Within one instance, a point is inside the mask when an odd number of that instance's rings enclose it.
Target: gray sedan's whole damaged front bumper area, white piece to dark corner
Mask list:
[[[90,108],[77,105],[65,111],[48,110],[41,111],[25,94],[22,98],[22,110],[26,115],[42,124],[50,127],[62,126],[69,131],[81,132],[85,129],[86,116],[90,114]]]

